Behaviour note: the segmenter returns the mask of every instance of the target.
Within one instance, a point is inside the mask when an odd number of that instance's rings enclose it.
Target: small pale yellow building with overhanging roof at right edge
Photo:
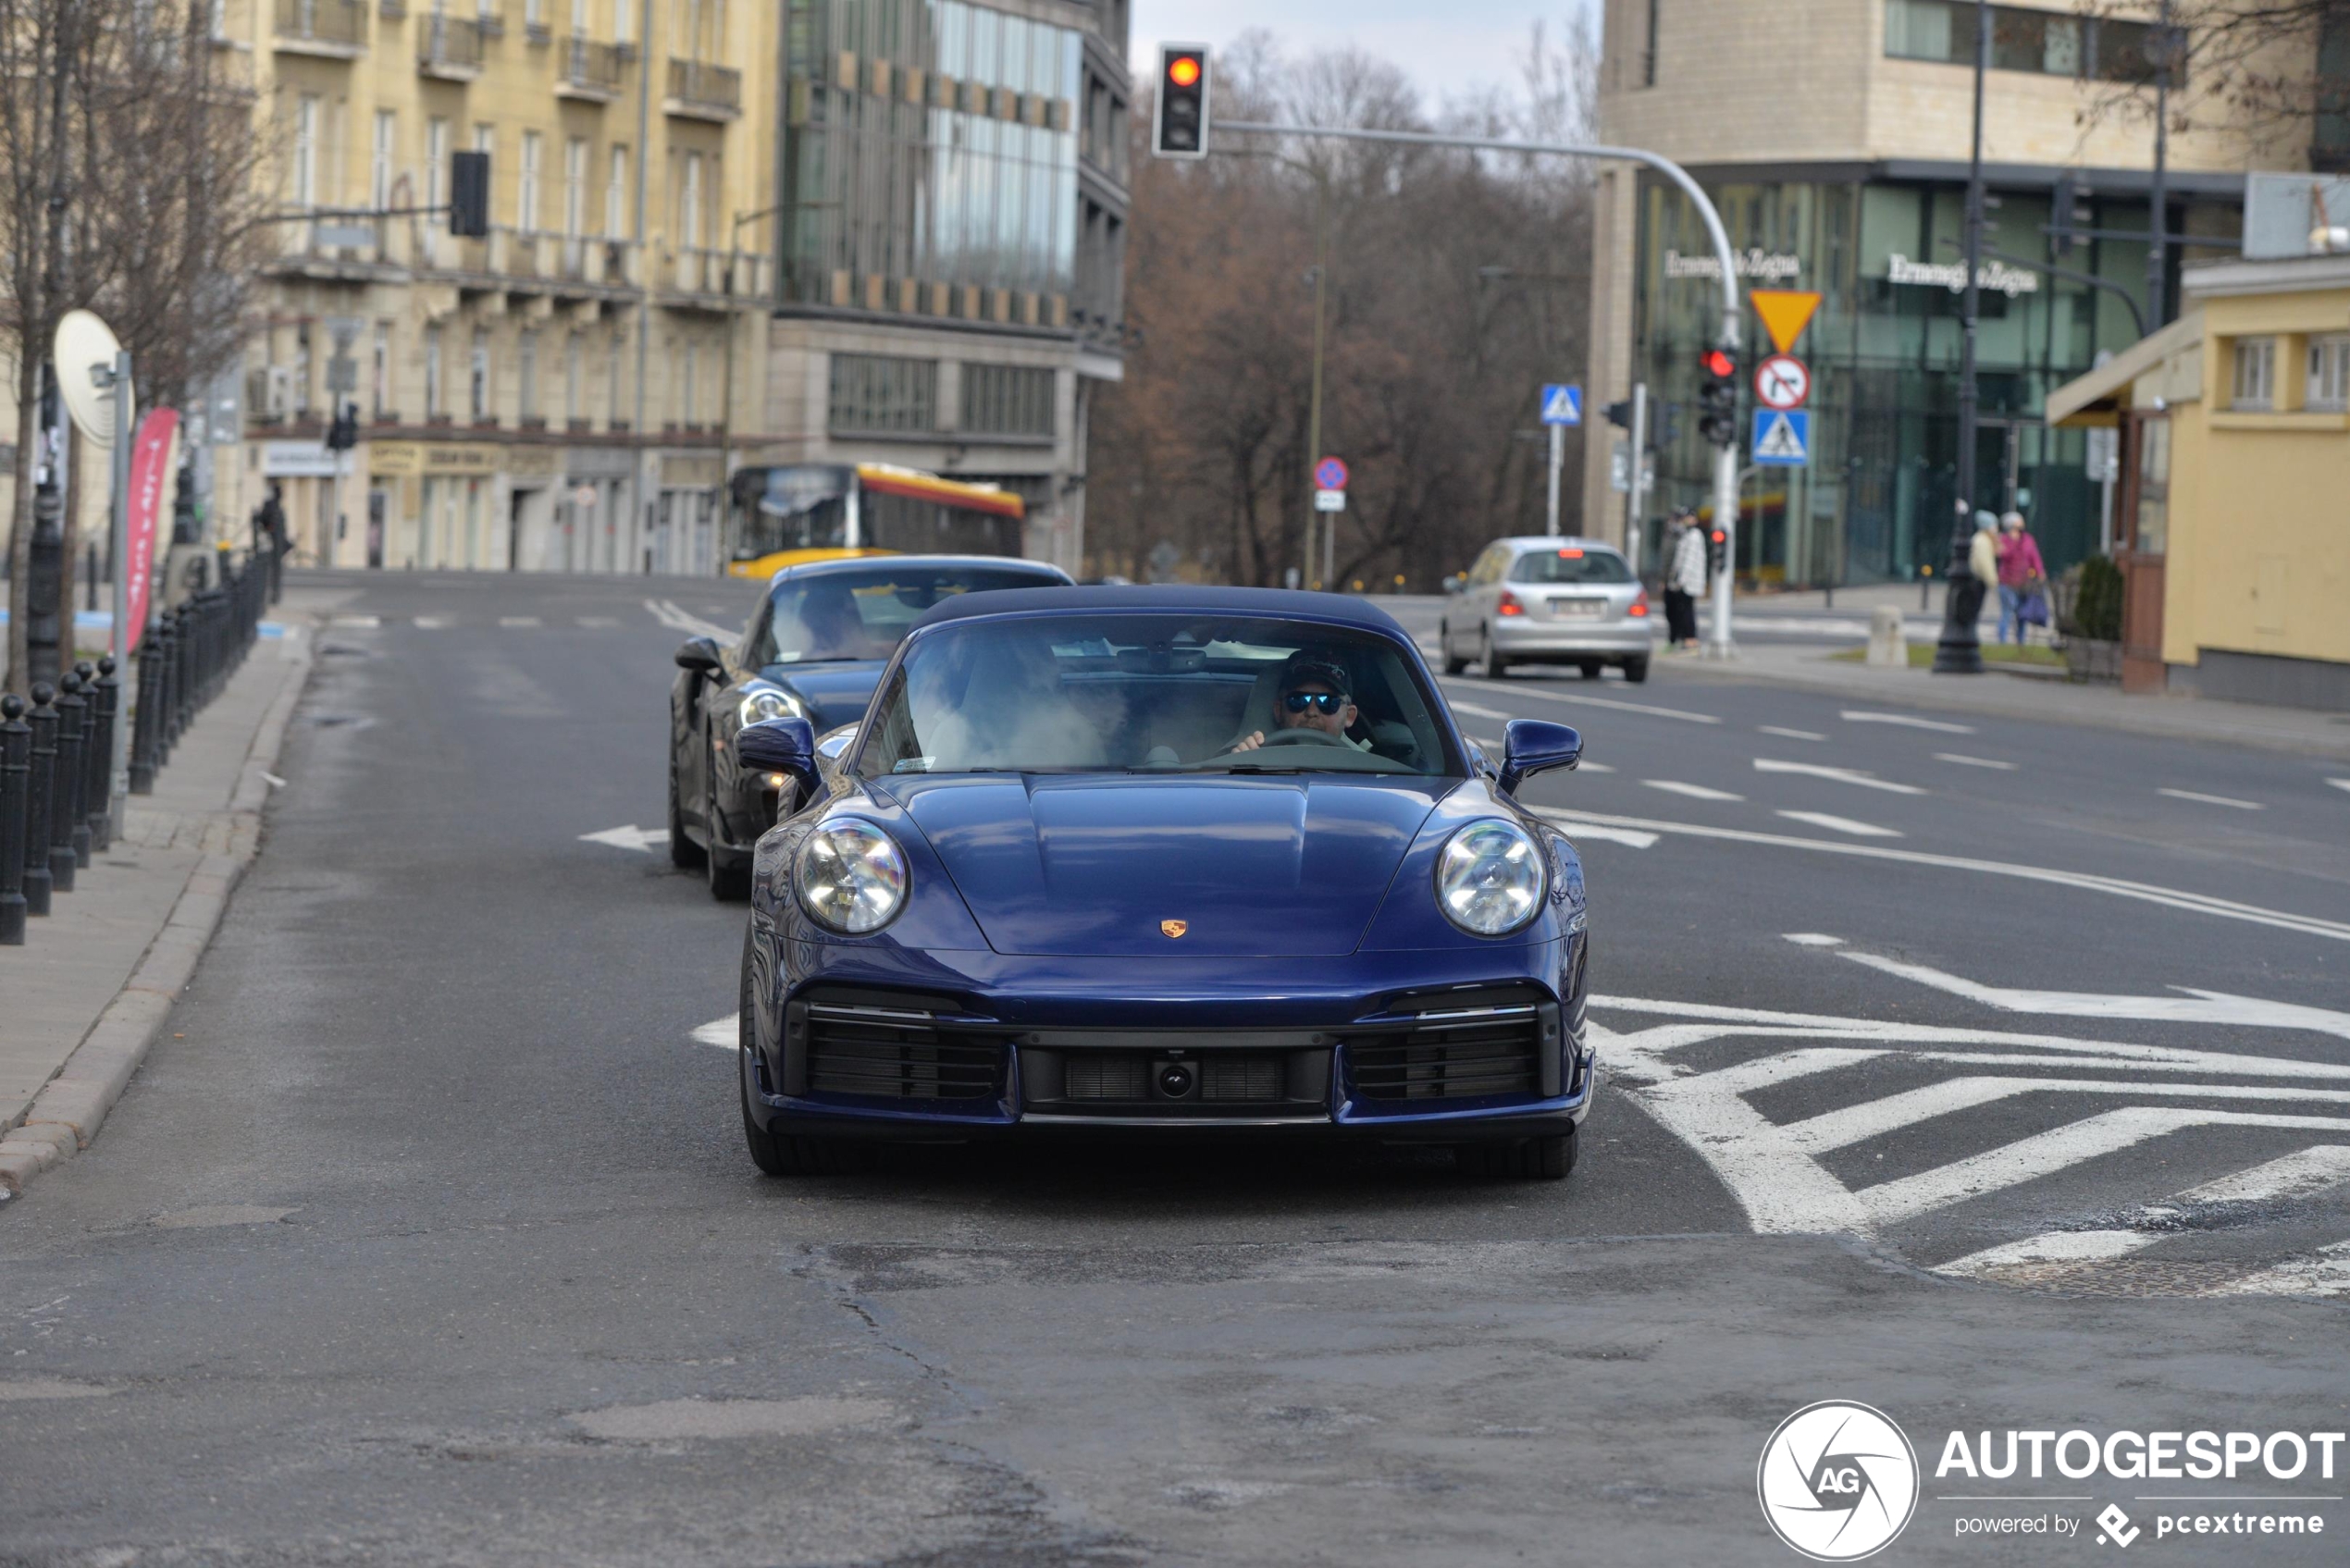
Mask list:
[[[2186,308],[2047,404],[2122,433],[2124,684],[2350,710],[2350,254],[2193,268]]]

